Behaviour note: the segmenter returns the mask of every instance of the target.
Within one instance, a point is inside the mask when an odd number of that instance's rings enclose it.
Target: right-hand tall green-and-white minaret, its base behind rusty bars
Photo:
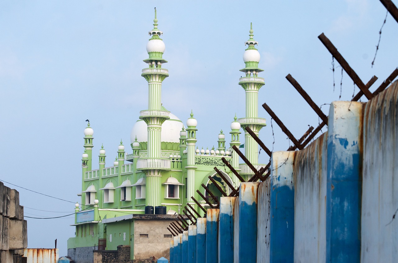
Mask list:
[[[245,45],[247,44],[248,48],[246,48],[243,54],[243,61],[245,62],[246,67],[240,70],[241,72],[244,72],[246,76],[239,79],[239,85],[242,86],[246,93],[246,118],[240,118],[238,119],[238,122],[240,122],[240,125],[245,131],[245,157],[254,164],[257,169],[259,169],[260,166],[256,166],[256,164],[258,164],[258,143],[245,130],[245,128],[249,127],[256,135],[258,135],[261,128],[265,126],[265,119],[258,118],[258,91],[264,85],[264,79],[262,77],[258,77],[258,73],[263,70],[258,68],[260,53],[254,47],[258,42],[253,39],[252,23],[250,23],[249,33],[250,38],[245,42]],[[246,164],[241,164],[240,168],[241,174],[254,174]]]

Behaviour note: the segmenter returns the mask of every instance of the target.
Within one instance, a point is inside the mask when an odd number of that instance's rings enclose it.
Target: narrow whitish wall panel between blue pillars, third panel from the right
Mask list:
[[[258,187],[258,212],[257,212],[257,262],[269,263],[269,193],[271,180],[268,177]]]

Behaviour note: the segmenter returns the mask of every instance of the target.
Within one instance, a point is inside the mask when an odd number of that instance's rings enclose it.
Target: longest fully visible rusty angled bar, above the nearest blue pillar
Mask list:
[[[341,56],[341,54],[337,51],[337,48],[332,44],[332,42],[325,36],[324,33],[320,34],[318,36],[318,39],[324,44],[324,46],[329,50],[330,54],[334,58],[336,58],[337,62],[339,62],[340,66],[345,70],[347,75],[354,81],[354,83],[361,89],[363,94],[367,97],[368,100],[372,99],[374,96],[373,94],[369,91],[369,89],[366,88],[365,84],[363,84],[362,80],[359,78],[357,73],[349,66],[347,61]]]

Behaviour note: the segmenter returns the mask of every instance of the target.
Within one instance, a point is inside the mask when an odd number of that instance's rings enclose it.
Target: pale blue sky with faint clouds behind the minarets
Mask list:
[[[396,5],[398,2],[393,1]],[[197,119],[197,146],[217,145],[222,129],[230,141],[234,115],[245,115],[244,42],[250,22],[264,70],[259,117],[267,119],[260,139],[269,149],[292,143],[261,107],[266,102],[299,138],[320,120],[285,79],[289,73],[322,111],[351,100],[358,87],[341,74],[317,38],[324,33],[364,83],[374,91],[397,67],[398,24],[377,0],[336,1],[8,1],[0,2],[0,180],[20,192],[25,216],[74,213],[81,192],[81,156],[86,119],[94,129],[93,169],[101,143],[112,166],[120,139],[147,108],[148,31],[154,7],[166,44],[162,102],[184,123]],[[335,87],[333,83],[335,82]],[[341,90],[340,90],[340,83]],[[363,97],[362,101],[366,101]],[[324,105],[323,105],[324,104]],[[272,124],[272,125],[271,125]],[[324,128],[323,132],[326,131]],[[274,135],[273,135],[274,134]],[[269,157],[261,152],[259,162]],[[51,195],[39,195],[13,186]],[[69,201],[69,202],[68,202]],[[60,256],[74,236],[74,216],[27,219],[28,248],[53,248]]]

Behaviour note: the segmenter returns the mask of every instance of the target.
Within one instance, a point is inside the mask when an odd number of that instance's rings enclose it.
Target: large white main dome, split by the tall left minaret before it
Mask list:
[[[179,143],[179,131],[183,125],[181,120],[170,112],[170,120],[166,120],[162,124],[162,141]],[[131,143],[134,143],[135,136],[137,135],[137,141],[143,142],[148,141],[148,130],[146,123],[143,120],[137,120],[131,130],[130,139]],[[134,145],[133,145],[134,146]],[[139,145],[135,146],[138,147]]]

